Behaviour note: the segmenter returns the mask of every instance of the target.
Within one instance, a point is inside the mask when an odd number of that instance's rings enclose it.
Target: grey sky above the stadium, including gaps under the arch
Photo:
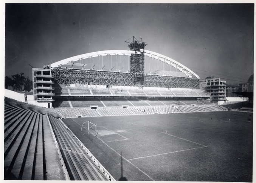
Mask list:
[[[125,41],[133,36],[200,79],[237,84],[253,74],[254,4],[6,3],[5,76],[23,72],[31,79],[29,64],[43,68],[84,53],[129,50]],[[129,58],[103,59],[85,61],[85,69],[128,70]],[[170,67],[145,58],[145,73],[157,69]]]

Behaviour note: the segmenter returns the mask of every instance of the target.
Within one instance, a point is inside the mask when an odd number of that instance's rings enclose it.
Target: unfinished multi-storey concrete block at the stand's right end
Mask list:
[[[218,105],[226,101],[226,81],[220,78],[200,79],[200,88],[211,94],[210,100]]]

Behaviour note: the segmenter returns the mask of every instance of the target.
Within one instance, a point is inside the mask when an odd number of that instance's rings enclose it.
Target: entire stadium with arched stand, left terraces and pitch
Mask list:
[[[219,106],[226,82],[209,92],[126,43],[33,68],[33,95],[5,95],[5,180],[252,181],[252,113]]]

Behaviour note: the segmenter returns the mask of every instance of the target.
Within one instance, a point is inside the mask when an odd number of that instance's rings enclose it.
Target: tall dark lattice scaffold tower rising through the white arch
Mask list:
[[[128,40],[125,42],[129,43]],[[134,36],[132,42],[128,45],[130,50],[136,52],[130,56],[130,72],[135,73],[135,82],[141,85],[144,82],[144,47],[146,45],[147,43],[144,43],[141,38],[137,40]]]

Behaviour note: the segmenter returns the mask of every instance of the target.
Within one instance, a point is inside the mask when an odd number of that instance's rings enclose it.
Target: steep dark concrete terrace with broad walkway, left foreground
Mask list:
[[[65,180],[61,162],[54,158],[58,157],[57,149],[48,133],[46,114],[55,112],[61,117],[54,109],[5,97],[5,180]],[[56,171],[47,173],[47,167]]]

